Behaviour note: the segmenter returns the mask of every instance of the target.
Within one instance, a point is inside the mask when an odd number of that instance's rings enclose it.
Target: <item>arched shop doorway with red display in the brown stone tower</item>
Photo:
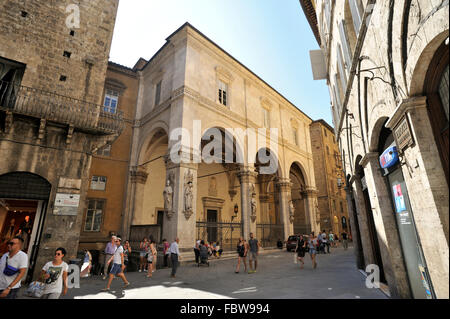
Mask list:
[[[45,178],[29,172],[0,176],[0,256],[12,237],[21,236],[30,261],[27,281],[34,272],[51,188]]]

